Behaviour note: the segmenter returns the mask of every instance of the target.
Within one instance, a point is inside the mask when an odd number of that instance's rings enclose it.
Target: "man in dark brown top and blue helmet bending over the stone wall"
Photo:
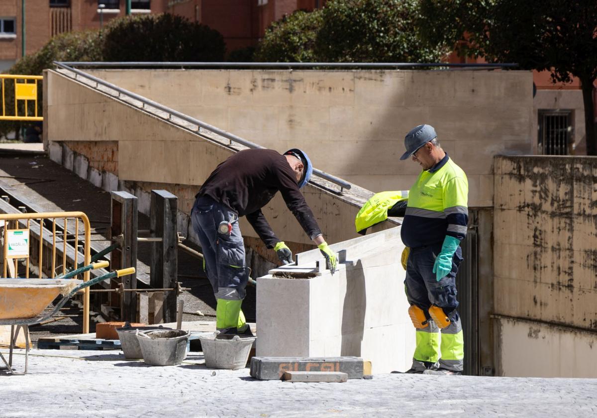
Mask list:
[[[324,255],[330,271],[336,271],[336,255],[325,242],[299,190],[309,182],[312,172],[309,157],[300,149],[288,150],[284,155],[271,149],[247,149],[219,164],[196,194],[191,219],[216,295],[216,329],[220,339],[253,335],[241,311],[250,269],[245,265],[238,218],[247,216],[261,240],[276,251],[282,263],[293,262],[290,248],[273,233],[261,213],[278,190]]]

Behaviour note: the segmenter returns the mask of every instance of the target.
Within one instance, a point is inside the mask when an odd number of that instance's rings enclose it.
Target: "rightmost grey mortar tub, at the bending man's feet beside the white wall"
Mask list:
[[[251,346],[256,337],[234,336],[232,340],[217,340],[216,333],[199,336],[205,357],[205,367],[239,370],[247,367]]]

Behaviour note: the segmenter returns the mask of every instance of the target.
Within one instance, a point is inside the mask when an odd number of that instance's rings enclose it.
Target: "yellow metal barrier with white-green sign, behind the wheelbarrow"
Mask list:
[[[67,227],[69,219],[75,223],[75,233],[69,233]],[[57,220],[62,231],[56,231]],[[84,226],[84,233],[79,238],[79,220]],[[33,222],[32,222],[33,221]],[[3,246],[4,256],[2,263],[4,265],[4,277],[7,272],[10,277],[19,277],[19,260],[24,260],[25,271],[24,277],[29,278],[30,263],[29,259],[32,253],[32,235],[39,241],[39,248],[37,255],[37,266],[39,278],[43,278],[44,270],[49,272],[48,276],[54,278],[57,270],[59,275],[67,272],[66,270],[66,254],[67,251],[73,251],[73,269],[77,268],[79,257],[79,242],[83,241],[83,261],[87,266],[91,263],[91,226],[87,215],[82,212],[48,212],[48,213],[16,213],[16,214],[0,214],[0,222],[4,222],[3,229]],[[33,223],[33,225],[32,225]],[[61,225],[60,225],[61,224]],[[72,225],[72,224],[71,224]],[[51,233],[48,238],[44,239],[44,228]],[[32,234],[33,232],[33,234]],[[59,239],[57,240],[57,236]],[[72,237],[72,238],[71,238]],[[51,238],[51,239],[50,239]],[[72,242],[74,245],[67,247],[67,242]],[[51,262],[46,260],[44,265],[44,242],[46,247],[50,247]],[[61,247],[61,266],[56,268],[57,262],[57,245]],[[72,247],[72,248],[71,248]],[[60,262],[60,261],[59,261]],[[44,268],[45,266],[45,268]],[[32,266],[34,267],[34,266]],[[83,273],[83,280],[89,280],[89,271]],[[89,332],[89,288],[85,288],[83,295],[83,333]]]

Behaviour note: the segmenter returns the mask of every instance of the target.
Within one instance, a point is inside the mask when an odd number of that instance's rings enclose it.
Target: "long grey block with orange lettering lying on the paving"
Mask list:
[[[279,380],[287,371],[332,371],[346,373],[348,379],[362,379],[363,367],[363,359],[352,356],[253,357],[250,373],[251,377],[259,380]]]

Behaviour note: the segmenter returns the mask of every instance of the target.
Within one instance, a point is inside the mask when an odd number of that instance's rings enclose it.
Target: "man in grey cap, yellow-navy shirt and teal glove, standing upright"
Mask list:
[[[432,126],[413,128],[404,146],[407,151],[400,159],[412,157],[423,168],[408,192],[401,230],[407,246],[403,256],[408,257],[408,314],[417,329],[413,367],[407,373],[461,374],[464,339],[456,311],[456,272],[469,220],[469,183],[439,146]]]

